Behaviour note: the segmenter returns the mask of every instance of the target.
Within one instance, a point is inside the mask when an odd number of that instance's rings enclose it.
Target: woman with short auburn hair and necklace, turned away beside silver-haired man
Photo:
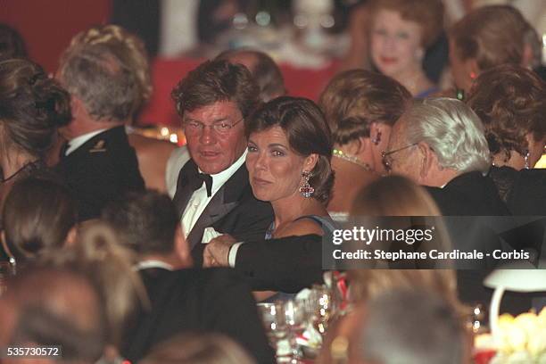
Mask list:
[[[334,219],[346,215],[360,189],[385,173],[381,154],[409,100],[411,95],[400,83],[369,70],[336,75],[320,95],[318,105],[334,141],[336,178],[328,203]]]

